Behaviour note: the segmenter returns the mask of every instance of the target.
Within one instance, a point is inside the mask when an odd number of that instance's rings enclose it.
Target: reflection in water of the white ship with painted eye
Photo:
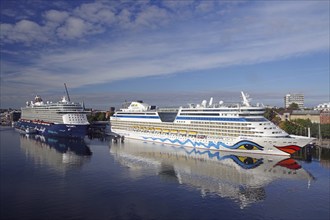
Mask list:
[[[132,178],[159,175],[201,191],[201,195],[230,198],[245,208],[266,198],[265,186],[278,179],[314,177],[286,156],[238,154],[129,140],[110,144],[110,153],[130,169]]]

